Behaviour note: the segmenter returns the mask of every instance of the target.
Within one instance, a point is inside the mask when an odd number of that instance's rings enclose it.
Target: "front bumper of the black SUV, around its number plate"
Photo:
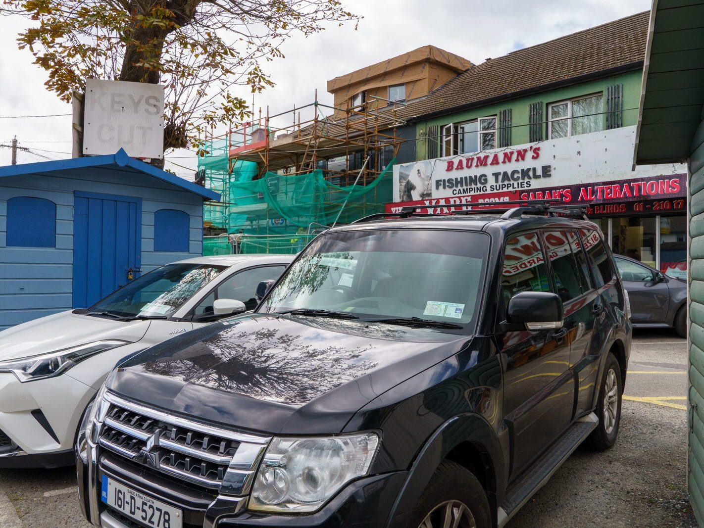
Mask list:
[[[407,472],[366,477],[346,486],[324,508],[310,515],[270,515],[246,510],[247,496],[203,494],[173,479],[113,457],[84,437],[76,446],[78,494],[84,516],[103,528],[132,528],[101,501],[103,474],[144,494],[181,508],[184,528],[240,527],[382,527],[386,525]]]

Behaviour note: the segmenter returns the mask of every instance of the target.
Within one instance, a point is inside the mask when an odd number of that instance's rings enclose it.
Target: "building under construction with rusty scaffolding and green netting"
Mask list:
[[[206,205],[206,254],[296,252],[325,227],[384,210],[399,149],[415,139],[399,117],[404,101],[467,65],[425,46],[329,81],[332,106],[315,92],[311,103],[260,110],[209,139],[199,171],[222,200]]]

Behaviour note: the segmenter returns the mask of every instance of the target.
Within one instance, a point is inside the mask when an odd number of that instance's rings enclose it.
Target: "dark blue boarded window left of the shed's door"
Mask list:
[[[7,201],[8,247],[55,248],[56,203],[15,196]]]

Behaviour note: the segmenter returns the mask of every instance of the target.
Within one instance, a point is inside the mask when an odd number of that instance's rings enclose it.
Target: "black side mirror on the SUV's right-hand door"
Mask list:
[[[546,291],[521,291],[508,301],[507,322],[525,325],[527,330],[562,328],[565,318],[562,299]]]

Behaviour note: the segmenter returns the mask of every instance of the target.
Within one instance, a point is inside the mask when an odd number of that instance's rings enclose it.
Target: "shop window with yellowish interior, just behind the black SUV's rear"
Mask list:
[[[611,251],[655,268],[658,218],[612,218],[611,221]]]

